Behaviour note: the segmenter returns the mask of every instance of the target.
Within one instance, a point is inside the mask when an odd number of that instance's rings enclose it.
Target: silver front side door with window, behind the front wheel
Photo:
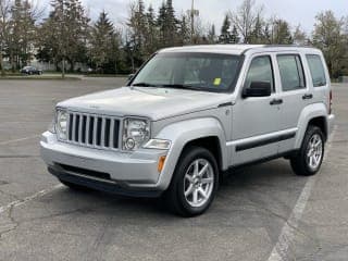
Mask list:
[[[233,107],[232,165],[239,165],[277,153],[279,109],[271,54],[254,55],[249,63],[244,85]],[[271,96],[243,98],[251,83],[271,84]]]

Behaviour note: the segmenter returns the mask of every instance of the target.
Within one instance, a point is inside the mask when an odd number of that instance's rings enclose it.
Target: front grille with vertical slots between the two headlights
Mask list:
[[[112,116],[70,112],[67,141],[85,147],[119,149],[120,120]]]

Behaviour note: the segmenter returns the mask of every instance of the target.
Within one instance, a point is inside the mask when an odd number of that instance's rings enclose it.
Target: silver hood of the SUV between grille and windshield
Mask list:
[[[122,87],[60,102],[58,107],[115,116],[145,116],[153,121],[217,108],[231,101],[226,94],[174,88]]]

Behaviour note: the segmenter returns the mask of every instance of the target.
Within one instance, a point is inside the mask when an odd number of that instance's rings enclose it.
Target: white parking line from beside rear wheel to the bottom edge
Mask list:
[[[325,158],[326,158],[327,153],[330,152],[330,149],[332,146],[332,140],[335,136],[336,130],[337,130],[337,125],[335,125],[334,130],[333,130],[331,137],[328,138]],[[295,232],[298,227],[298,222],[302,217],[303,211],[306,209],[306,204],[307,204],[308,199],[311,195],[312,188],[314,187],[316,178],[318,178],[318,175],[311,176],[308,178],[308,181],[302,189],[302,192],[293,209],[293,212],[291,212],[289,219],[286,221],[285,225],[282,228],[278,240],[277,240],[276,245],[274,246],[274,248],[272,249],[271,256],[268,259],[268,261],[285,261],[285,260],[287,260],[289,246],[294,241]]]

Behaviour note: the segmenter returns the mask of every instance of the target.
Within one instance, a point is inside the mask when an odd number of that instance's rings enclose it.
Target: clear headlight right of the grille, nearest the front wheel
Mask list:
[[[150,122],[144,119],[128,117],[123,122],[122,148],[135,150],[150,138]]]

